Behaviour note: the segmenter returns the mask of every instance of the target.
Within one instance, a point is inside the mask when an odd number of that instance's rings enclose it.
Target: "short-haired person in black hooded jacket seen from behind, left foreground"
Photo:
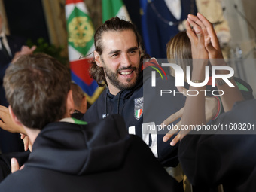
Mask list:
[[[66,66],[45,54],[21,56],[7,69],[9,112],[32,152],[21,170],[11,160],[14,173],[0,191],[175,191],[178,183],[127,133],[122,117],[96,123],[71,117],[70,84]]]

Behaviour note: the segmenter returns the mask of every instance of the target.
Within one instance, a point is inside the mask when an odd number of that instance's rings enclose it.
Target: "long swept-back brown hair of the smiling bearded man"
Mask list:
[[[106,20],[105,23],[103,23],[102,26],[99,26],[99,28],[96,30],[94,34],[95,50],[99,53],[99,55],[102,55],[102,35],[104,32],[122,32],[124,30],[132,30],[136,35],[142,62],[142,57],[145,55],[145,53],[144,50],[142,50],[142,40],[139,32],[136,30],[136,26],[134,26],[133,23],[130,23],[130,21],[121,20],[119,17],[112,17],[111,19]],[[92,61],[92,66],[90,67],[90,77],[95,79],[100,87],[107,84],[103,68],[97,66],[94,59]]]

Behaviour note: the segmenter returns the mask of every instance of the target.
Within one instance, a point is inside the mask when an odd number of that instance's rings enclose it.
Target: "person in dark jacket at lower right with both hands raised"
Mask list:
[[[193,57],[198,56],[200,62],[193,62],[192,81],[203,80],[203,67],[208,59],[220,58],[221,52],[212,24],[203,17],[189,15],[187,35],[192,44]],[[203,45],[203,46],[202,46]],[[224,63],[222,63],[224,64]],[[191,90],[205,89],[193,87]],[[224,97],[237,99],[233,108],[213,122],[216,126],[235,126],[239,124],[255,125],[256,100],[242,101],[239,90],[224,85],[227,93]],[[235,96],[234,96],[235,95]],[[227,102],[225,98],[223,102]],[[231,104],[231,102],[229,104]],[[206,125],[205,96],[187,96],[182,125],[198,127]],[[218,191],[255,191],[256,155],[253,153],[256,136],[253,130],[181,130],[178,157],[184,173],[197,191],[213,191],[221,184]],[[190,134],[188,134],[191,132]]]

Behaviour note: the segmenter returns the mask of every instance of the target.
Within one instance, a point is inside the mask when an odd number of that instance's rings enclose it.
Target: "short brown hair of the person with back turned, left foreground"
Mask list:
[[[14,114],[28,128],[43,129],[66,114],[70,72],[44,53],[21,56],[5,72],[4,87]]]

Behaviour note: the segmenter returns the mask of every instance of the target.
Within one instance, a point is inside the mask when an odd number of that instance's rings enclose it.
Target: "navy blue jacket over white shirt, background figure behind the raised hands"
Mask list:
[[[194,0],[181,0],[181,19],[177,20],[169,11],[164,0],[148,1],[147,11],[144,17],[147,28],[142,29],[148,33],[148,39],[144,41],[146,47],[150,47],[148,54],[157,59],[166,58],[166,44],[178,32],[178,25],[187,20],[187,14],[197,14],[197,5]],[[173,23],[169,25],[169,23]],[[184,29],[183,29],[184,30]]]

